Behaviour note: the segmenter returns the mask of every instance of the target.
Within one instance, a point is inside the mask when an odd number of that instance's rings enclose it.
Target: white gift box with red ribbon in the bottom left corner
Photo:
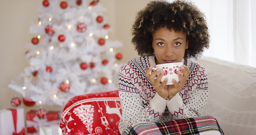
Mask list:
[[[25,135],[24,109],[0,110],[0,134]]]

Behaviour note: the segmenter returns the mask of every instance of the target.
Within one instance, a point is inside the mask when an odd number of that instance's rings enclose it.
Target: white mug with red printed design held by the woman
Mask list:
[[[153,68],[152,70],[160,69],[161,71],[164,71],[164,76],[161,78],[161,82],[164,82],[165,78],[168,78],[167,85],[172,85],[172,79],[175,79],[176,82],[179,82],[178,78],[178,71],[181,72],[181,66],[183,65],[182,62],[174,62],[174,63],[166,63],[166,64],[158,64],[156,65],[156,68]],[[159,75],[159,74],[158,74]]]

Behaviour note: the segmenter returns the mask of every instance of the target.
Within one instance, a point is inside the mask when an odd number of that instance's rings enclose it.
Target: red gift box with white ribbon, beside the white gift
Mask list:
[[[37,116],[37,111],[31,110],[26,114],[28,133],[39,133],[39,127],[60,124],[60,111],[49,111],[44,118]]]

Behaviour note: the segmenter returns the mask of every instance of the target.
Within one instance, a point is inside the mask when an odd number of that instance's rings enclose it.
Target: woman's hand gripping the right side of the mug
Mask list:
[[[187,66],[185,66],[185,65],[181,66],[181,71],[182,71],[183,75],[181,74],[180,71],[178,71],[179,83],[177,83],[175,79],[172,79],[173,85],[168,86],[169,100],[172,99],[178,92],[180,92],[182,90],[182,88],[187,83],[188,76],[191,73],[190,69],[188,69]]]

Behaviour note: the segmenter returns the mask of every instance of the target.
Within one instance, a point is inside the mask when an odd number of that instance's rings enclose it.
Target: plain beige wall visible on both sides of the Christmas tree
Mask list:
[[[106,8],[103,14],[107,17],[107,22],[113,29],[109,33],[110,40],[120,40],[124,46],[118,49],[123,53],[123,59],[120,62],[127,62],[137,56],[134,47],[131,44],[131,26],[137,11],[141,10],[149,0],[101,0]],[[1,72],[1,95],[0,109],[11,108],[11,98],[14,95],[21,95],[8,88],[8,84],[17,75],[23,72],[29,61],[25,59],[25,44],[30,42],[32,34],[29,34],[29,26],[38,22],[37,11],[42,0],[31,1],[0,1],[0,72]],[[38,109],[38,106],[26,107],[23,104],[25,113],[32,109]],[[44,106],[46,109],[55,109],[58,106]],[[59,107],[61,109],[61,107]]]

